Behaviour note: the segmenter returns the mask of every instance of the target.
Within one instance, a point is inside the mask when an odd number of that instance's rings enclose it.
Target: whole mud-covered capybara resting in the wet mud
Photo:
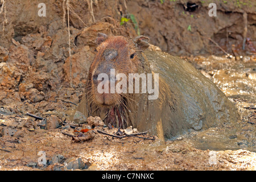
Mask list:
[[[236,106],[212,81],[183,59],[147,50],[148,40],[99,33],[77,110],[86,117],[101,117],[106,125],[132,125],[167,139],[237,121]]]

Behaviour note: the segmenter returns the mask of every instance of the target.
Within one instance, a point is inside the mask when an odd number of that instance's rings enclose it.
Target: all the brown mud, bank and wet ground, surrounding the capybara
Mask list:
[[[184,1],[163,4],[126,1],[126,5],[123,1],[93,1],[95,23],[88,1],[71,1],[76,13],[71,12],[69,17],[72,59],[69,59],[67,13],[64,15],[63,2],[46,2],[47,17],[37,15],[41,1],[5,2],[7,20],[0,14],[1,170],[67,169],[64,162],[72,161],[70,158],[80,158],[85,164],[82,169],[87,170],[255,170],[255,56],[251,55],[256,37],[254,1],[251,4],[245,1],[245,5],[238,1],[218,1],[217,19],[207,16],[204,19],[208,14],[207,1],[201,4],[193,1],[200,6],[193,12],[184,11],[187,3]],[[245,51],[241,51],[244,11],[248,21],[246,37],[250,40],[246,42]],[[214,127],[163,145],[157,137],[156,140],[118,139],[96,132],[93,139],[74,142],[61,132],[78,135],[73,133],[75,129],[60,126],[45,130],[43,121],[26,115],[31,113],[47,121],[75,125],[72,121],[75,104],[79,104],[84,90],[97,32],[135,36],[134,23],[119,24],[121,16],[129,13],[135,15],[141,34],[149,36],[150,43],[173,55],[197,55],[183,58],[212,80],[238,107],[241,119],[234,133],[232,128],[224,129],[229,126]],[[149,15],[152,19],[147,18]],[[162,26],[166,24],[168,26]],[[230,55],[236,55],[237,60],[213,56],[224,53],[208,38]],[[236,46],[233,50],[232,44]],[[199,56],[206,53],[208,55]],[[241,60],[240,55],[243,55]],[[102,130],[117,132],[117,129]],[[47,166],[38,163],[39,151],[46,152]],[[50,163],[56,155],[63,155],[64,162]]]

